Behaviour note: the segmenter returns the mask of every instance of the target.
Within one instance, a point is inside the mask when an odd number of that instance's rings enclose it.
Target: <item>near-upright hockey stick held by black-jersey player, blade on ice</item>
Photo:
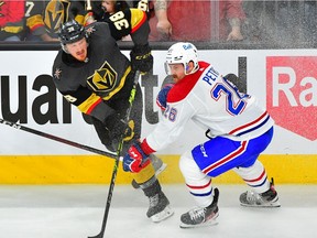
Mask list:
[[[135,98],[135,93],[136,93],[136,85],[139,82],[139,77],[140,77],[140,72],[136,71],[135,75],[134,75],[134,82],[133,82],[133,87],[131,89],[131,94],[130,94],[130,98],[129,98],[129,108],[127,110],[127,115],[125,115],[125,122],[129,122],[130,119],[130,112],[132,109],[132,105]],[[102,219],[102,225],[101,225],[101,230],[97,236],[92,236],[92,237],[88,237],[88,238],[103,238],[103,234],[105,234],[105,229],[106,229],[106,225],[107,225],[107,220],[108,220],[108,215],[109,215],[109,209],[110,209],[110,205],[111,205],[111,198],[112,198],[112,194],[113,194],[113,188],[114,188],[114,183],[116,183],[116,177],[117,177],[117,173],[118,173],[118,167],[119,167],[119,160],[120,160],[120,153],[122,151],[122,147],[123,147],[123,139],[124,139],[124,134],[121,134],[120,138],[120,142],[117,149],[117,160],[114,161],[114,166],[113,166],[113,171],[112,171],[112,176],[111,176],[111,182],[109,185],[109,191],[108,191],[108,197],[107,197],[107,204],[106,204],[106,208],[105,208],[105,214],[103,214],[103,219]]]

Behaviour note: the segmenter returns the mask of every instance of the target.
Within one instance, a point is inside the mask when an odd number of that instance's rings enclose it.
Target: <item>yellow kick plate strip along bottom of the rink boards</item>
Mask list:
[[[178,169],[178,155],[161,155],[167,164],[158,176],[162,183],[184,183]],[[317,155],[261,155],[267,175],[278,184],[316,184]],[[97,155],[61,156],[1,156],[1,184],[109,184],[114,161]],[[4,170],[6,167],[6,170]],[[118,184],[129,184],[131,175],[123,172],[121,164]],[[230,171],[216,177],[215,183],[242,183]]]

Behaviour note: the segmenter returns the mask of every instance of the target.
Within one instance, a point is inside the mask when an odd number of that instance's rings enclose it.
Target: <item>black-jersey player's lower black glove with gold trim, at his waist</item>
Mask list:
[[[105,126],[110,132],[112,143],[119,143],[120,138],[123,136],[124,141],[129,141],[134,136],[134,121],[130,120],[129,123],[120,117],[118,113],[112,113],[105,120]]]

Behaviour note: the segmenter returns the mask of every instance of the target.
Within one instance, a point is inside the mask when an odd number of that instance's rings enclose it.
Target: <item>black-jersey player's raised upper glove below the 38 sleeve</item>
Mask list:
[[[153,68],[153,56],[149,44],[135,45],[130,52],[130,57],[133,71],[140,71],[144,74]]]

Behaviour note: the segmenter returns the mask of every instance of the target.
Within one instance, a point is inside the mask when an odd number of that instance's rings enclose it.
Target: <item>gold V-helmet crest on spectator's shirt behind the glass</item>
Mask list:
[[[44,23],[51,33],[57,33],[59,26],[68,21],[70,2],[68,0],[51,0],[44,12]]]

